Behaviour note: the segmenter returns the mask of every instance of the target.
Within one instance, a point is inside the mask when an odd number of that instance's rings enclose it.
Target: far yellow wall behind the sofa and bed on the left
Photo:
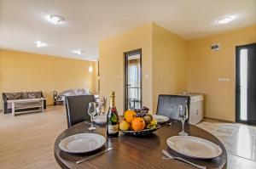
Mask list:
[[[52,104],[54,90],[71,88],[95,89],[95,74],[89,66],[96,62],[66,59],[42,54],[0,50],[0,92],[43,91],[47,104]],[[2,109],[2,104],[0,109]]]

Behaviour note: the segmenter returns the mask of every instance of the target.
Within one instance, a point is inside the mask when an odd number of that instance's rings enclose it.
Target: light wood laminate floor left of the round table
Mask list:
[[[53,145],[66,128],[64,106],[15,117],[0,113],[0,168],[60,168]]]

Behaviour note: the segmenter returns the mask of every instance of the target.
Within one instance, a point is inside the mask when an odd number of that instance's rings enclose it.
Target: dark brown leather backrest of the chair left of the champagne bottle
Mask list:
[[[88,104],[95,102],[94,95],[79,95],[66,97],[67,127],[90,119]]]

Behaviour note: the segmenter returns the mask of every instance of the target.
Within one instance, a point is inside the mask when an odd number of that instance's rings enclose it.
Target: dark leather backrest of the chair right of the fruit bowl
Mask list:
[[[189,96],[160,94],[156,114],[165,115],[172,120],[178,120],[178,104],[187,104],[189,110],[189,101]]]

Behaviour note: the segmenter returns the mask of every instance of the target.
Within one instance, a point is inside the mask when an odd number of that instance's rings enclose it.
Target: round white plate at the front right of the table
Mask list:
[[[212,159],[222,154],[217,144],[193,136],[173,136],[166,143],[177,153],[198,159]]]

